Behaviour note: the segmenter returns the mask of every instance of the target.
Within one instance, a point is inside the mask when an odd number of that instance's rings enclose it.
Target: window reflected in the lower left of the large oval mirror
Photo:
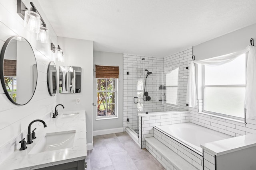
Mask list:
[[[14,102],[16,102],[17,82],[16,76],[4,76],[6,89]]]

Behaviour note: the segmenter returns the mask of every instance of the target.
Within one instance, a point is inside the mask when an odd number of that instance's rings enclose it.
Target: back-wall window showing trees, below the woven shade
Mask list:
[[[117,79],[97,78],[97,118],[117,117]]]

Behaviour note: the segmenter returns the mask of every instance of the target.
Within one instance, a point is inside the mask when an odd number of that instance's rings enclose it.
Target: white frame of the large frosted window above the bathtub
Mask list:
[[[247,58],[248,58],[248,53],[245,53],[245,70],[247,68]],[[245,71],[246,74],[246,71]],[[204,113],[210,113],[213,115],[218,115],[218,116],[222,116],[222,117],[228,117],[228,118],[232,118],[232,119],[238,119],[238,120],[244,120],[245,115],[243,117],[237,117],[234,115],[228,115],[228,114],[223,114],[223,113],[217,113],[217,112],[213,112],[213,111],[207,111],[204,109],[204,102],[205,102],[205,87],[245,87],[246,88],[246,75],[245,75],[245,84],[229,84],[229,85],[205,85],[205,65],[202,65],[202,100],[203,100],[203,108],[202,111]]]

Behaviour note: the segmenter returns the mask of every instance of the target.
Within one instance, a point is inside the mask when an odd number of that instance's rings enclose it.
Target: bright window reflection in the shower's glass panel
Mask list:
[[[178,73],[179,67],[166,73],[166,104],[179,105],[178,102]],[[163,95],[163,94],[162,94]]]

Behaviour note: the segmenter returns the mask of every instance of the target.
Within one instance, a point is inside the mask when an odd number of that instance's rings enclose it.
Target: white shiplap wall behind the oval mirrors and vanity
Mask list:
[[[48,29],[50,29],[50,39],[55,44],[57,43],[57,36],[52,27],[48,23],[44,12],[40,8],[37,0],[32,0],[41,16],[44,18]],[[25,5],[30,7],[30,1],[25,0]],[[23,28],[23,20],[16,13],[16,0],[2,0],[0,1],[0,49],[4,42],[13,35],[20,35],[30,42],[34,50],[38,68],[38,82],[35,94],[32,100],[24,105],[17,106],[12,104],[4,94],[2,86],[0,86],[0,162],[4,160],[11,152],[20,147],[18,143],[22,137],[18,136],[23,131],[26,131],[28,124],[34,119],[42,119],[44,115],[50,113],[52,108],[56,105],[56,96],[49,95],[47,90],[46,73],[49,62],[52,60],[53,53],[50,51],[50,44],[41,44],[36,41],[36,34],[28,32]],[[1,68],[2,69],[2,68]],[[41,126],[42,127],[42,126]],[[40,128],[40,127],[37,127]],[[18,139],[15,140],[14,137]],[[11,141],[13,139],[13,141]],[[10,145],[8,141],[11,141]],[[8,147],[8,152],[2,149]]]

